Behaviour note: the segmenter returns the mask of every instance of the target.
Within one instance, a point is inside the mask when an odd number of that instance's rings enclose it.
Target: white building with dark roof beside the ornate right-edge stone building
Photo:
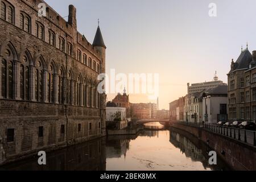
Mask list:
[[[207,123],[227,121],[228,86],[217,86],[208,89],[203,98],[203,116]]]

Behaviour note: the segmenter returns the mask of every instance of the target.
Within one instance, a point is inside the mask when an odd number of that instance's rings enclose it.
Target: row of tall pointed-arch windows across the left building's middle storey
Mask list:
[[[46,70],[42,56],[36,59],[34,66],[28,50],[19,61],[15,61],[15,48],[10,42],[0,57],[1,98],[96,108],[100,106],[96,81],[82,78],[81,74],[73,78],[72,69],[68,74],[64,66],[57,71],[52,61]]]

